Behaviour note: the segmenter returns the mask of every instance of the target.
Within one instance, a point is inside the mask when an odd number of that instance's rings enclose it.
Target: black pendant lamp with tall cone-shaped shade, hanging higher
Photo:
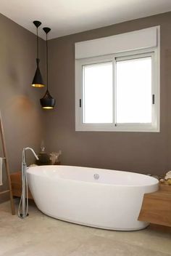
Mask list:
[[[39,69],[39,63],[40,63],[40,59],[38,58],[38,27],[41,25],[41,22],[38,20],[33,21],[33,24],[36,25],[37,28],[37,58],[36,58],[36,64],[37,64],[37,68],[36,68],[36,73],[35,76],[33,78],[33,82],[32,82],[32,86],[33,87],[44,87],[45,85],[43,84],[43,79],[41,76],[41,71]]]

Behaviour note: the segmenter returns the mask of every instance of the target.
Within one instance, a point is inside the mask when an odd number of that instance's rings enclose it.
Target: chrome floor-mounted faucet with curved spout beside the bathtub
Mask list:
[[[32,151],[33,155],[38,160],[38,156],[36,155],[35,151],[33,151],[33,148],[23,148],[22,150],[22,195],[20,199],[20,204],[18,207],[18,216],[22,219],[24,217],[28,216],[28,180],[27,180],[27,164],[25,161],[25,151],[30,150]],[[26,195],[26,196],[25,196]],[[26,199],[26,202],[25,202]],[[20,209],[22,208],[22,211]]]

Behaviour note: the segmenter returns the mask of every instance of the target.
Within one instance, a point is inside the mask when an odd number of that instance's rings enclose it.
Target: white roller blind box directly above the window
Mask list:
[[[75,59],[157,47],[159,26],[75,43]]]

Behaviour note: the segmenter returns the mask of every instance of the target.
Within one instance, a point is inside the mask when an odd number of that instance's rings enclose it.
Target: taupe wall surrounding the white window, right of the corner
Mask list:
[[[161,26],[161,132],[75,132],[75,42]],[[171,12],[49,41],[54,111],[44,113],[46,145],[62,164],[162,174],[171,168]]]

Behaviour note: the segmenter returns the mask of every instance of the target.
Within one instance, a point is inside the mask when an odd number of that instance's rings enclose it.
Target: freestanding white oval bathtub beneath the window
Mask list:
[[[70,166],[27,170],[41,212],[59,220],[117,231],[146,228],[138,221],[143,194],[158,190],[154,177],[134,172]]]

